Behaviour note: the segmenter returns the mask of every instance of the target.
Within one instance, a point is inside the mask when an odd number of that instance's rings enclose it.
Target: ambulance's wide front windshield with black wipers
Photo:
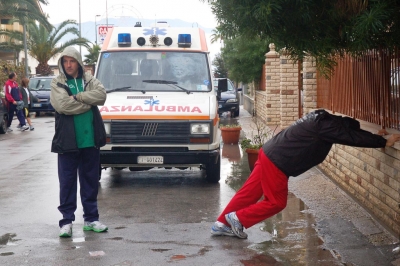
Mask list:
[[[107,91],[210,91],[206,53],[106,52],[99,58],[97,78]]]

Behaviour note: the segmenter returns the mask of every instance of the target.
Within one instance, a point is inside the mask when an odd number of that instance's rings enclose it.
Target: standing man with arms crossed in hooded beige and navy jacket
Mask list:
[[[83,206],[84,231],[104,232],[99,221],[100,150],[106,132],[98,105],[106,101],[103,84],[85,73],[78,50],[67,47],[58,60],[60,74],[51,82],[50,101],[55,109],[55,134],[51,151],[58,153],[60,237],[72,236],[77,201],[77,179]]]

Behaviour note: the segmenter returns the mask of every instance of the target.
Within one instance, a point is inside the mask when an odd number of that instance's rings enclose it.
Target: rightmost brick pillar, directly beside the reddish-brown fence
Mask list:
[[[307,56],[303,61],[303,112],[317,108],[317,67],[315,58]]]

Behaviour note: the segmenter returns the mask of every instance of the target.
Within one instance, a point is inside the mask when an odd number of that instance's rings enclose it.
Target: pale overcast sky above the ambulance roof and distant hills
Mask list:
[[[49,14],[49,21],[52,24],[67,19],[74,19],[79,23],[80,2],[82,23],[95,21],[95,16],[100,15],[96,17],[97,22],[107,17],[130,16],[138,20],[181,19],[206,28],[215,28],[217,25],[210,5],[207,1],[203,3],[200,0],[48,0],[48,2],[47,6],[42,5],[42,9],[44,13]],[[219,52],[221,44],[219,42],[211,44],[210,36],[207,36],[207,39],[213,58]]]

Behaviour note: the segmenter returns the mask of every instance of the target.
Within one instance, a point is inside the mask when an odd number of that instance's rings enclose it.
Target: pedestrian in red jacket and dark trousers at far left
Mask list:
[[[4,91],[6,96],[6,101],[8,104],[8,122],[7,122],[7,132],[13,131],[11,129],[11,123],[14,118],[14,113],[17,114],[17,118],[19,120],[20,130],[25,131],[28,130],[29,127],[25,123],[25,117],[22,113],[22,108],[18,107],[18,102],[23,105],[22,95],[18,87],[17,83],[17,74],[12,72],[8,75],[8,80],[4,84]],[[18,108],[17,108],[18,107]]]

